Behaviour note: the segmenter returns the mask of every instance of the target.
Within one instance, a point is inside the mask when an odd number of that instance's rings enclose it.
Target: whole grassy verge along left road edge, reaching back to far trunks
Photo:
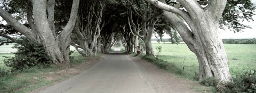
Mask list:
[[[102,54],[84,58],[79,53],[75,52],[71,55],[71,68],[69,69],[61,70],[59,66],[53,65],[49,68],[31,68],[9,73],[5,77],[0,77],[0,92],[31,92],[43,89],[55,82],[77,75],[79,70],[85,68],[85,66],[82,66],[83,63],[97,61],[101,58]],[[93,63],[89,65],[92,66]],[[76,68],[77,66],[80,67]]]

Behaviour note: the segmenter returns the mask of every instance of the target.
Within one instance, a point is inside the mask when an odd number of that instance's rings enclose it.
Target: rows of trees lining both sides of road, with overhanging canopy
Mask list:
[[[188,3],[189,2],[189,3]],[[249,26],[239,19],[252,20],[251,0],[1,0],[0,36],[15,42],[10,35],[26,36],[44,46],[51,62],[66,68],[69,47],[84,57],[107,53],[115,44],[127,52],[141,50],[153,56],[151,36],[163,33],[177,41],[179,33],[197,56],[199,80],[215,77],[231,81],[227,54],[219,28],[234,32]],[[242,14],[240,14],[242,13]],[[82,50],[81,50],[82,49]]]

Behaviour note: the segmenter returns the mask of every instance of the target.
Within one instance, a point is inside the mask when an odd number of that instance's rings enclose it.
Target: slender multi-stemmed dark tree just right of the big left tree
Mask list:
[[[108,23],[103,20],[103,9],[105,8],[106,0],[84,1],[80,5],[81,8],[75,29],[76,39],[73,40],[73,46],[75,48],[80,46],[83,52],[79,53],[82,53],[84,57],[88,57],[97,54],[97,40],[100,41],[101,30]]]

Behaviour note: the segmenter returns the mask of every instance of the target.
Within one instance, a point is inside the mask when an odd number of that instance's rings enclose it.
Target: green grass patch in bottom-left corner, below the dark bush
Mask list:
[[[14,72],[0,78],[0,92],[29,92],[31,90],[50,85],[54,80],[46,80],[42,72],[49,73],[56,68],[31,68],[22,72]]]

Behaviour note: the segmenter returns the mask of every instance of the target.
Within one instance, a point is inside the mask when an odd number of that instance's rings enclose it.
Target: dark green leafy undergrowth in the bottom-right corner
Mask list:
[[[256,70],[247,70],[243,74],[228,82],[221,92],[255,92],[256,91]]]

